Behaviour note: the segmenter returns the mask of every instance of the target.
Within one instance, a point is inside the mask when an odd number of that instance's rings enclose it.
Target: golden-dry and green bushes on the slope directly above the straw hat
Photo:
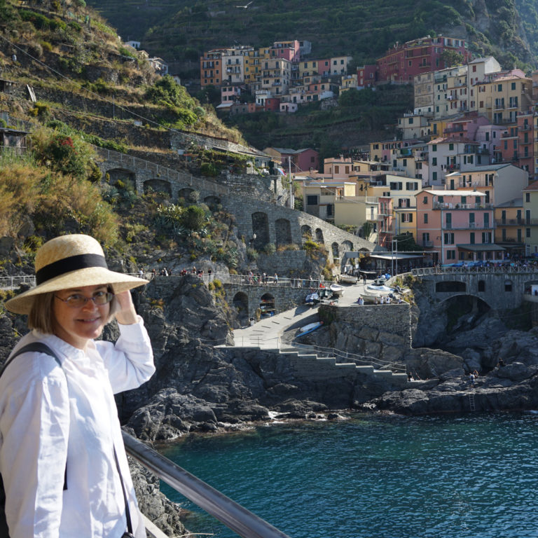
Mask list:
[[[24,158],[0,158],[0,236],[27,235],[39,247],[43,237],[75,230],[116,244],[117,217],[90,181],[96,179],[90,146],[45,130],[32,135],[32,144],[34,151]],[[29,223],[33,234],[23,232]]]

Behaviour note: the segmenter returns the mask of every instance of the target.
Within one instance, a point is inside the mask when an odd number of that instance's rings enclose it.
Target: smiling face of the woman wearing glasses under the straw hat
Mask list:
[[[109,319],[110,303],[99,306],[89,300],[82,306],[74,308],[64,301],[74,295],[89,299],[99,292],[106,293],[106,291],[106,285],[57,291],[53,301],[55,335],[68,344],[84,350],[89,340],[97,338],[102,333]]]

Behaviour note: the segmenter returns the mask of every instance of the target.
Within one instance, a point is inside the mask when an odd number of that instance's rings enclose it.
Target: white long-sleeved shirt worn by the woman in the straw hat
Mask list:
[[[83,351],[32,331],[13,351],[36,341],[57,354],[62,368],[54,357],[27,352],[0,378],[0,473],[10,537],[120,538],[127,523],[115,446],[133,532],[145,538],[113,397],[155,371],[142,318],[120,325],[116,344],[91,340]]]

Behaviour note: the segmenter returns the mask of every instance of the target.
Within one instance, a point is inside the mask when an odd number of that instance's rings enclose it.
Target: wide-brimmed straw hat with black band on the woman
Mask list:
[[[147,284],[147,280],[109,270],[104,252],[89,235],[60,235],[37,251],[36,287],[6,301],[15,314],[29,314],[39,294],[83,286],[111,284],[114,293]]]

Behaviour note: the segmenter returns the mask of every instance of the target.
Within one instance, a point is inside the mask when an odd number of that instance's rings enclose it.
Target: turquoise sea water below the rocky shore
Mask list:
[[[538,415],[364,415],[160,452],[291,538],[538,537]],[[236,536],[199,509],[186,526]]]

